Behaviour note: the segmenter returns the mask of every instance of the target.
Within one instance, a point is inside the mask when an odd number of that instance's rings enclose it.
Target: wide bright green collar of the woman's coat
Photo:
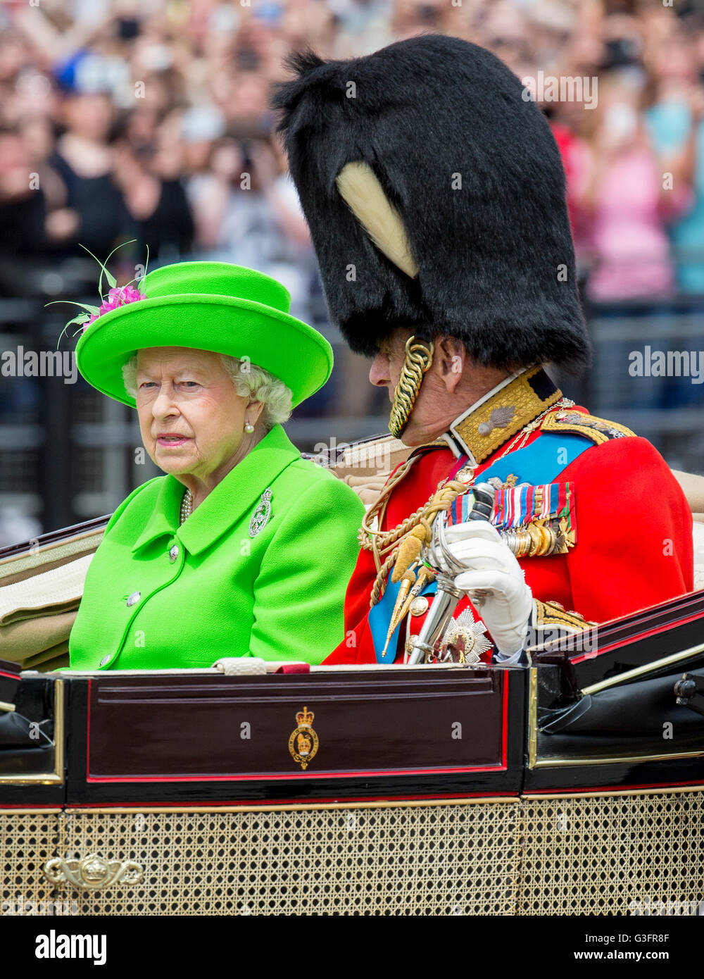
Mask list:
[[[175,535],[190,554],[198,554],[257,504],[264,489],[300,458],[301,453],[283,428],[274,425],[211,490],[181,527],[178,526],[178,516],[184,487],[174,476],[165,476],[154,511],[132,545],[132,552],[157,537]],[[275,505],[274,495],[274,508]]]

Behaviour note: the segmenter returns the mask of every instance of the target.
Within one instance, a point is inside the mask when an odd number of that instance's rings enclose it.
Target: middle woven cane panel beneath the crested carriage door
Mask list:
[[[518,810],[71,814],[67,848],[144,867],[83,914],[511,914]]]

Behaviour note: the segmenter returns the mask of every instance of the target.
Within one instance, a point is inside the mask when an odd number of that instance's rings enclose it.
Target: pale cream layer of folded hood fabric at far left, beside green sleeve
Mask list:
[[[24,619],[75,611],[92,559],[93,555],[87,554],[23,582],[0,587],[0,629]]]

